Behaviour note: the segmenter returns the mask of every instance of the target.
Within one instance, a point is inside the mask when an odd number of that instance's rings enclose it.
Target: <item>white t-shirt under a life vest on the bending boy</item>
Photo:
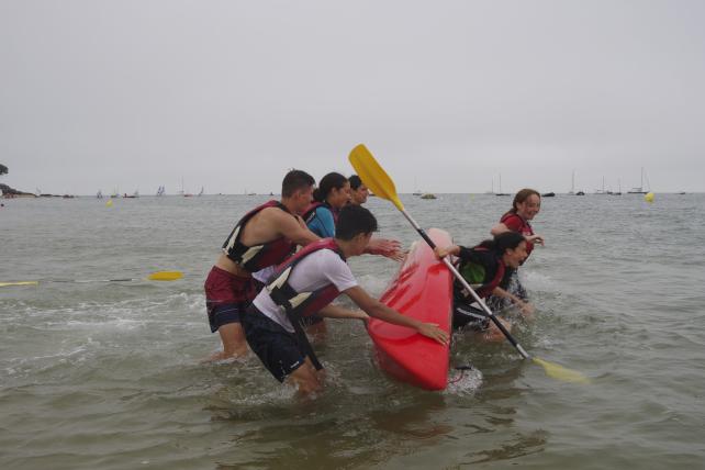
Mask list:
[[[296,292],[313,292],[331,283],[339,292],[343,292],[356,287],[357,280],[347,262],[329,249],[320,249],[306,256],[299,261],[289,276],[289,284]],[[261,313],[280,324],[286,331],[294,333],[289,317],[283,309],[271,300],[267,288],[259,292],[253,303]]]

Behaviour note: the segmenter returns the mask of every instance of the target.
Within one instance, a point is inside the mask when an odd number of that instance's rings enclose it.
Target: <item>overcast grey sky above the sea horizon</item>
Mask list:
[[[0,0],[0,182],[705,190],[705,2]]]

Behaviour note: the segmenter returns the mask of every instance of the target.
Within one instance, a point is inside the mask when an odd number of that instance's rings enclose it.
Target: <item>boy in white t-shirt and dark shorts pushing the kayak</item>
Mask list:
[[[325,238],[280,265],[240,323],[249,347],[280,382],[287,380],[307,394],[323,389],[318,363],[300,325],[301,317],[321,316],[367,320],[369,316],[409,326],[441,344],[448,335],[437,325],[410,318],[371,298],[352,276],[346,258],[359,256],[377,231],[377,220],[365,208],[347,205],[339,214],[335,238]],[[362,311],[331,302],[345,293]],[[368,316],[369,315],[369,316]]]

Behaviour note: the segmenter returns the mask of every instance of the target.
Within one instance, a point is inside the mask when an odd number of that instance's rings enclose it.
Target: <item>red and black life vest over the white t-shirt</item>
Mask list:
[[[296,265],[306,256],[321,249],[329,249],[345,261],[345,256],[335,240],[333,238],[323,238],[306,245],[294,256],[279,265],[267,282],[269,296],[277,305],[284,309],[293,322],[298,322],[299,317],[316,313],[340,295],[340,292],[332,283],[313,292],[296,292],[289,283],[291,272]]]

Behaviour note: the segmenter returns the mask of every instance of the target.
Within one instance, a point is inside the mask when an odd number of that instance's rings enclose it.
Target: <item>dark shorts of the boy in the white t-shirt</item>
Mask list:
[[[283,382],[303,366],[305,355],[295,334],[287,332],[255,305],[240,314],[239,322],[250,349],[277,380]]]

